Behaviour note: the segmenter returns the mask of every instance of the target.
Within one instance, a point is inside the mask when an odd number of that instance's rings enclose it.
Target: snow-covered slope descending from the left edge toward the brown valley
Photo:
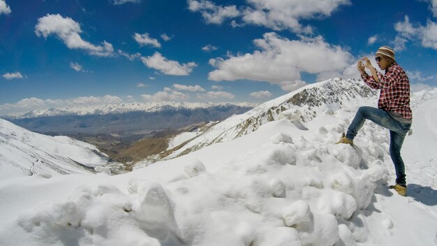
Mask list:
[[[45,136],[0,119],[0,180],[24,175],[96,173],[114,167],[94,145]]]

